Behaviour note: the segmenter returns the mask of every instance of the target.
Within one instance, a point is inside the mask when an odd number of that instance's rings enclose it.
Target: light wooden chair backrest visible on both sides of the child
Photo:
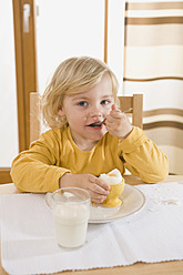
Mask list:
[[[132,124],[134,126],[143,128],[143,94],[120,95],[120,110],[125,111],[132,108]],[[39,93],[30,93],[30,143],[38,140],[40,136],[40,104]]]

